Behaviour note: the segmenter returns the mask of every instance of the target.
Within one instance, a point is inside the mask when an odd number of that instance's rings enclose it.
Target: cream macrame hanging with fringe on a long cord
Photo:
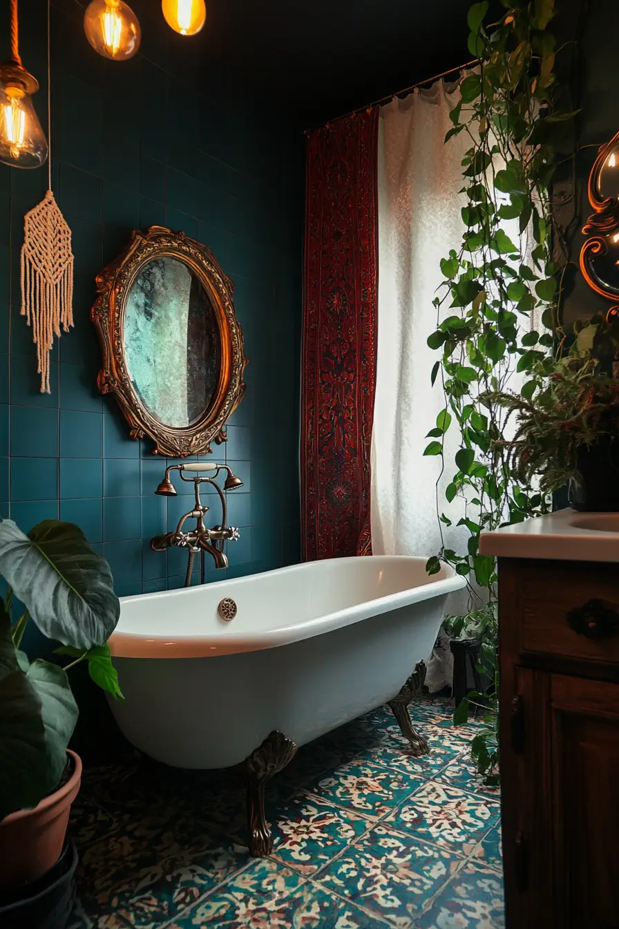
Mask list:
[[[41,393],[49,390],[49,352],[54,335],[73,325],[73,255],[71,229],[52,193],[51,65],[49,43],[49,0],[47,0],[47,191],[45,197],[24,216],[21,247],[21,315],[32,325],[36,344],[37,373]]]

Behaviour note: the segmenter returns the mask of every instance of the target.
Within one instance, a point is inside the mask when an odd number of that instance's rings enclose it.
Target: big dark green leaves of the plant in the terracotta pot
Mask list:
[[[36,806],[58,787],[77,704],[67,671],[88,662],[93,680],[122,697],[110,661],[108,638],[120,615],[108,562],[72,523],[45,519],[25,535],[0,521],[0,820]],[[19,618],[11,607],[19,599]],[[30,661],[21,648],[27,622],[61,643],[65,667]]]

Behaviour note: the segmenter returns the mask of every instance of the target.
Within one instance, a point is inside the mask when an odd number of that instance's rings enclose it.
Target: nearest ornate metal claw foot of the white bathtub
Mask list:
[[[296,751],[294,742],[276,729],[245,761],[247,818],[252,857],[264,858],[273,851],[271,831],[264,816],[264,788],[267,780],[292,761]]]

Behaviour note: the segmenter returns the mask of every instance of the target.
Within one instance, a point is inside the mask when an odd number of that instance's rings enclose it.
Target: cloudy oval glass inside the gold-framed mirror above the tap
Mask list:
[[[209,294],[188,265],[151,258],[127,294],[123,331],[135,393],[161,423],[192,425],[217,391],[221,339]]]

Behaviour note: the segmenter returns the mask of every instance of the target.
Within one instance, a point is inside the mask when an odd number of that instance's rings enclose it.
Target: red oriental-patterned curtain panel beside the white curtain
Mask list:
[[[302,505],[307,560],[370,554],[379,110],[308,139]]]

